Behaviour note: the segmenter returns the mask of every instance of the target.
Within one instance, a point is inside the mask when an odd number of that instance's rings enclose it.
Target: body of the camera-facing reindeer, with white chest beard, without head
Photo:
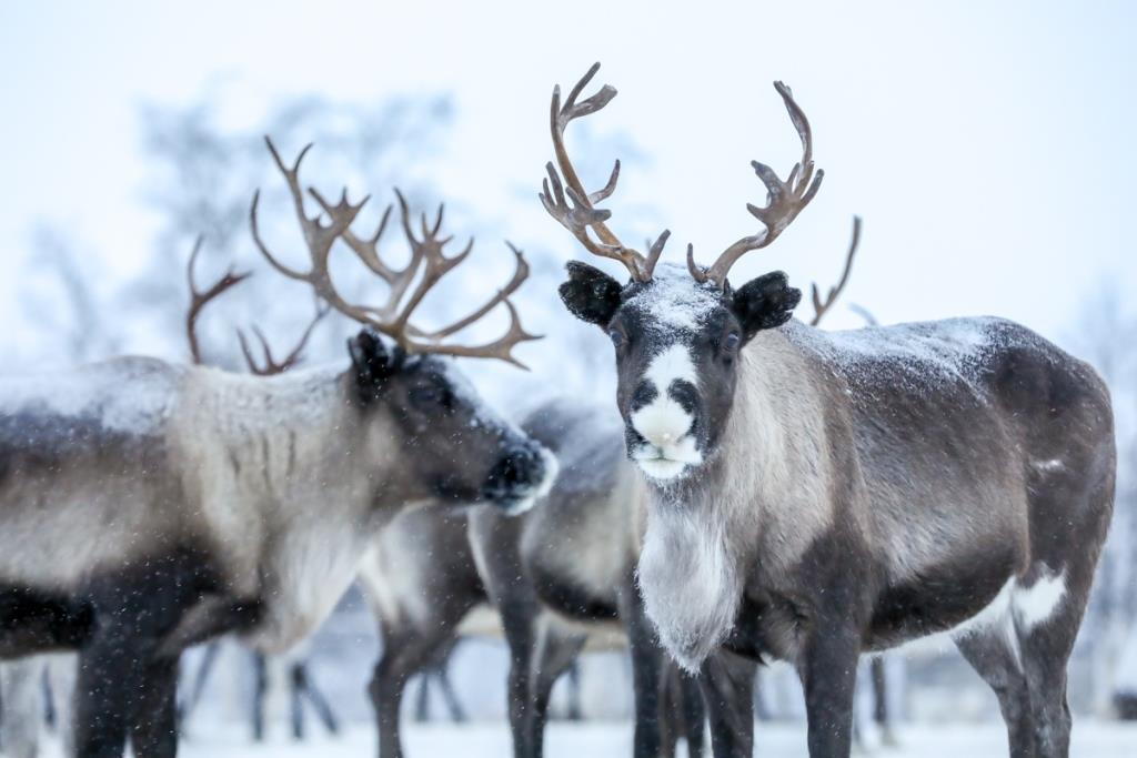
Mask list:
[[[1114,465],[1105,385],[1021,326],[791,322],[741,351],[717,451],[650,488],[648,614],[690,668],[721,642],[794,663],[828,709],[813,756],[847,753],[856,655],[937,632],[996,686],[1013,755],[1064,755]]]

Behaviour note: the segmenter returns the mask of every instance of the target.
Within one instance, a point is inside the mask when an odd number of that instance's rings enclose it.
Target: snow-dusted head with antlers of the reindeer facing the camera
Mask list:
[[[657,267],[669,231],[644,255],[624,245],[605,223],[612,213],[596,207],[615,191],[620,161],[607,184],[588,193],[565,150],[568,123],[600,110],[616,94],[604,85],[578,102],[598,69],[599,64],[589,69],[564,106],[559,88],[553,91],[550,131],[557,167],[547,165],[548,180],[540,198],[546,210],[589,252],[619,260],[628,268],[631,278],[621,284],[588,264],[572,261],[561,298],[574,316],[596,324],[612,339],[628,453],[653,480],[671,482],[697,470],[716,450],[735,397],[739,351],[758,332],[789,320],[802,297],[781,272],[736,289],[727,278],[730,267],[744,253],[769,245],[781,234],[813,199],[823,172],[814,172],[805,114],[789,88],[777,82],[774,86],[802,139],[803,156],[786,182],[769,166],[752,164],[766,186],[766,205],[747,206],[762,222],[762,231],[735,242],[709,267],[695,263],[691,245],[687,247],[686,267]],[[837,291],[830,291],[829,303]],[[814,303],[820,318],[828,303],[821,303],[816,288]]]

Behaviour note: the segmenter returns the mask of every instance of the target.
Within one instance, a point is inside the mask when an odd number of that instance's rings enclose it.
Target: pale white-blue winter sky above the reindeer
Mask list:
[[[130,270],[156,225],[140,200],[140,105],[186,102],[231,75],[252,94],[250,111],[288,94],[451,91],[437,186],[522,247],[584,257],[536,193],[551,157],[553,84],[571,86],[600,60],[597,83],[620,95],[590,120],[650,158],[607,203],[625,241],[658,232],[637,220],[647,206],[672,230],[677,260],[689,241],[708,261],[757,231],[745,205],[764,191],[749,161],[785,176],[798,151],[771,86],[780,78],[813,123],[827,176],[792,227],[739,264],[736,283],[771,268],[803,288],[830,282],[860,214],[847,302],[883,322],[996,314],[1062,339],[1103,278],[1137,285],[1135,8],[2,3],[0,249],[17,260],[44,219]],[[19,282],[5,268],[0,318],[17,324]],[[843,308],[830,326],[857,323]]]

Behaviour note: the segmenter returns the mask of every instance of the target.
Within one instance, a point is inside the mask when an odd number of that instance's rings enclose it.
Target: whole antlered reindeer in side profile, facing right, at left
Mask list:
[[[310,147],[310,145],[309,145]],[[448,356],[516,364],[521,326],[509,295],[437,331],[410,323],[428,292],[470,255],[443,253],[442,208],[415,236],[398,195],[410,263],[382,263],[350,225],[345,191],[329,222],[308,214],[299,168],[284,176],[312,267],[254,241],[271,265],[308,283],[364,330],[339,366],[248,377],[117,358],[67,376],[0,381],[0,658],[75,649],[75,719],[83,756],[176,749],[179,653],[239,633],[284,650],[331,611],[359,559],[398,509],[424,500],[490,502],[521,513],[548,488],[555,459],[479,400]],[[382,307],[349,303],[327,270],[342,240],[391,286]],[[491,309],[508,331],[480,345],[453,335]],[[383,341],[384,335],[393,344]],[[450,339],[448,339],[450,338]],[[138,714],[155,714],[135,718]]]

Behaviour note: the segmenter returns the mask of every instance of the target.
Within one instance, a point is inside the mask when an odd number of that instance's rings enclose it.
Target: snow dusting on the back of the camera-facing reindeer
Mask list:
[[[889,384],[920,392],[946,383],[973,385],[988,358],[1040,338],[990,316],[825,332],[792,320],[786,336],[837,370],[852,385]]]

